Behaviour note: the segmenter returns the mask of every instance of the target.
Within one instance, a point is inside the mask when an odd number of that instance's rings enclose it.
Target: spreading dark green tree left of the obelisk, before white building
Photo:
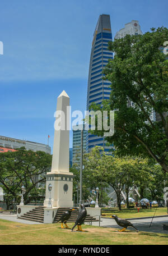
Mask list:
[[[24,203],[27,204],[32,198],[40,195],[36,186],[45,182],[45,174],[49,171],[52,163],[52,156],[45,152],[33,152],[24,147],[15,152],[0,154],[0,182],[6,193],[8,201],[13,199],[20,201],[21,186],[24,185]]]

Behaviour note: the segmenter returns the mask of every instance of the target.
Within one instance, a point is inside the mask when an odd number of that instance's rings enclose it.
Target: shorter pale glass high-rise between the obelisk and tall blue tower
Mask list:
[[[73,149],[72,149],[72,164],[77,164],[80,168],[81,161],[81,130],[79,126],[73,126]],[[78,130],[77,130],[78,129]],[[83,154],[86,153],[86,134],[87,131],[83,127]]]

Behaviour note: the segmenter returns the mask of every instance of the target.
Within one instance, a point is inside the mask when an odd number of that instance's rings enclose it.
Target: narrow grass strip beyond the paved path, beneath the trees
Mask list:
[[[156,211],[156,213],[155,213]],[[152,208],[152,209],[139,209],[139,212],[137,209],[123,209],[122,211],[119,211],[118,209],[114,209],[110,212],[103,212],[102,209],[102,217],[111,217],[111,215],[115,214],[120,218],[141,218],[141,217],[153,217],[155,213],[155,216],[160,215],[167,215],[167,208],[161,207],[161,208]]]

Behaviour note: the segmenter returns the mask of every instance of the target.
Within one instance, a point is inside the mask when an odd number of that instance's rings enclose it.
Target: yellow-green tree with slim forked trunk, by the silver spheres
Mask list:
[[[144,181],[149,182],[152,179],[148,158],[137,156],[120,157],[117,152],[114,153],[114,157],[108,156],[108,158],[108,162],[110,163],[111,161],[111,166],[109,165],[109,170],[107,168],[106,173],[108,184],[115,190],[119,209],[121,209],[122,191],[126,193],[127,208],[129,208],[130,189],[134,185],[145,186],[147,184]]]

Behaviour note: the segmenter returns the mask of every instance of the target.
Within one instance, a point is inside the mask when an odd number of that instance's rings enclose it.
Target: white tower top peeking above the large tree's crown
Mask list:
[[[125,28],[120,29],[116,32],[114,39],[123,38],[125,35],[142,35],[141,26],[138,20],[132,20],[131,22],[125,24]]]

